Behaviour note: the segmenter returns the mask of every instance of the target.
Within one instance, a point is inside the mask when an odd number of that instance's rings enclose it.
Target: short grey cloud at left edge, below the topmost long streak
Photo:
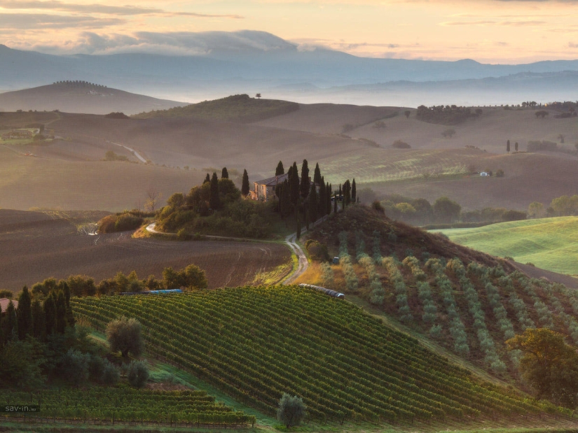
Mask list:
[[[48,15],[45,13],[0,13],[0,29],[99,29],[124,24],[121,18],[96,18],[76,15]]]

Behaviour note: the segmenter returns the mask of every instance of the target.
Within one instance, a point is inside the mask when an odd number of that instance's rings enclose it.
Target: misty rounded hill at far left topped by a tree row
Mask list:
[[[166,110],[183,102],[147,97],[85,81],[59,81],[31,89],[0,93],[1,111],[62,111],[65,113],[127,115]]]

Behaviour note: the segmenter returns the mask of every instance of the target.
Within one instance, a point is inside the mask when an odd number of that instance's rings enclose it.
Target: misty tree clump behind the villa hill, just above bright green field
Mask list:
[[[462,206],[448,197],[439,197],[430,204],[427,199],[411,199],[391,194],[381,202],[385,214],[413,225],[451,224],[462,222],[500,222],[525,220],[526,213],[506,208],[483,208],[462,212]]]

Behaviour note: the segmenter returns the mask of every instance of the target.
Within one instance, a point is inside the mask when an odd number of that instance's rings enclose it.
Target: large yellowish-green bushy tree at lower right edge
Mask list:
[[[551,329],[526,329],[506,341],[509,350],[521,350],[520,372],[537,399],[551,399],[574,409],[578,404],[578,354]]]

